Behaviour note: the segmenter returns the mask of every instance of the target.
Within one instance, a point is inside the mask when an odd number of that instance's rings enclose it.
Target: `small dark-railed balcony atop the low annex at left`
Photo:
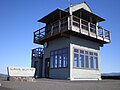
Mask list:
[[[32,50],[32,59],[42,58],[44,54],[43,48],[35,48]]]

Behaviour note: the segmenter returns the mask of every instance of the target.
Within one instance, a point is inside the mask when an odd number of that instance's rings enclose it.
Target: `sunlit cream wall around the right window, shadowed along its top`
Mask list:
[[[73,68],[73,48],[89,50],[98,53],[98,70]],[[100,47],[98,43],[75,36],[70,36],[70,80],[100,80]]]

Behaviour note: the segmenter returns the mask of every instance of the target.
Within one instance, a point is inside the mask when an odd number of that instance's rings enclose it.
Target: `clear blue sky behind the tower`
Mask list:
[[[111,32],[111,43],[101,47],[101,72],[120,72],[120,0],[86,1],[92,11],[105,18],[99,23]],[[37,20],[60,8],[66,9],[68,0],[0,0],[0,73],[7,74],[7,66],[30,67],[33,32],[42,28]]]

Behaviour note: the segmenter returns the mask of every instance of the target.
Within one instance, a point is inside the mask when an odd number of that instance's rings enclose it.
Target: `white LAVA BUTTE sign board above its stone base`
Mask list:
[[[8,67],[8,76],[33,77],[35,68]]]

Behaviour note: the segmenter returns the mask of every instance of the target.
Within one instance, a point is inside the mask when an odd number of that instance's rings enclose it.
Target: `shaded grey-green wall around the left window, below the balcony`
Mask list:
[[[70,77],[70,70],[69,70],[69,38],[66,37],[60,37],[57,39],[54,39],[52,41],[48,42],[48,47],[44,49],[44,56],[43,56],[43,77],[44,77],[44,63],[45,58],[50,58],[50,51],[57,50],[61,48],[68,47],[68,67],[67,68],[57,68],[57,69],[51,69],[49,71],[49,77],[50,78],[57,78],[57,79],[67,79]]]

